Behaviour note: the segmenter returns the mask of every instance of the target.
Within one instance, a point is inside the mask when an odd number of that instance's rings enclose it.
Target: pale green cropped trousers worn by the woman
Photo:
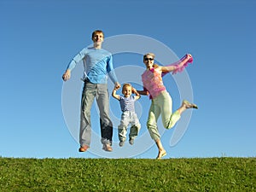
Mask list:
[[[162,123],[166,129],[171,129],[180,119],[180,113],[176,111],[172,113],[172,97],[165,90],[152,99],[151,106],[148,113],[148,131],[152,139],[157,141],[160,139],[160,133],[157,127],[157,119],[162,118]]]

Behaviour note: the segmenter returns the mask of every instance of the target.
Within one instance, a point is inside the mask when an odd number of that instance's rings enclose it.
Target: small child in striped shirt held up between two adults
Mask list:
[[[134,102],[137,101],[141,96],[138,94],[137,90],[131,86],[131,84],[124,84],[122,88],[123,96],[116,94],[116,90],[119,88],[115,87],[112,92],[113,98],[119,100],[120,107],[122,110],[122,116],[119,130],[119,146],[123,147],[126,140],[127,127],[131,124],[131,130],[129,134],[129,143],[132,145],[134,143],[135,137],[138,135],[138,131],[141,128],[141,124],[137,119],[137,113],[135,113]],[[136,96],[131,96],[134,93]]]

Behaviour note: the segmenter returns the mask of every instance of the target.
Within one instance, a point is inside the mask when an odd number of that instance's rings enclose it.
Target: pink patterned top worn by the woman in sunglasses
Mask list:
[[[142,75],[144,90],[148,90],[150,99],[159,96],[163,90],[166,90],[163,84],[162,73],[154,68],[147,70]]]

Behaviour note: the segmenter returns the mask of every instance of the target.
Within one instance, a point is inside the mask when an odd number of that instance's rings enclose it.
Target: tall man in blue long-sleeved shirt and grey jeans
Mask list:
[[[79,152],[85,152],[90,148],[91,124],[90,109],[96,98],[100,111],[100,124],[103,150],[112,151],[113,124],[109,118],[108,75],[115,87],[120,84],[113,70],[113,57],[107,50],[102,49],[104,34],[101,30],[92,32],[93,47],[82,49],[67,66],[62,79],[70,79],[71,71],[79,63],[84,62],[84,89],[81,101]]]

